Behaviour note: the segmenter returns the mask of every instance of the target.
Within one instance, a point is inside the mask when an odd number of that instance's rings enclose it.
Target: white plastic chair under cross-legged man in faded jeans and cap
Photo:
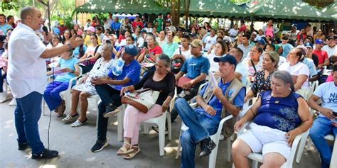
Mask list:
[[[195,108],[197,106],[197,103],[192,103],[190,106],[193,107],[193,108]],[[209,157],[209,161],[208,161],[208,167],[210,167],[210,168],[215,167],[216,157],[218,155],[218,147],[219,147],[220,135],[221,135],[221,133],[223,131],[223,123],[225,123],[225,121],[228,121],[230,118],[233,118],[233,116],[230,115],[230,116],[227,116],[227,117],[223,118],[220,121],[220,124],[219,124],[219,127],[218,127],[218,131],[215,134],[210,135],[210,139],[212,139],[215,142],[215,144],[216,144],[216,147],[210,153],[210,157]],[[185,130],[188,130],[188,127],[184,123],[181,123],[181,131],[180,131],[180,135],[179,135],[179,142],[178,142],[176,159],[178,159],[179,156],[181,155],[181,152],[180,152],[181,151],[181,139],[180,138],[181,138],[181,135],[182,135],[183,131],[185,131]],[[227,152],[227,161],[230,162],[230,138],[226,139],[226,145],[227,145],[227,149],[228,149],[228,152]]]

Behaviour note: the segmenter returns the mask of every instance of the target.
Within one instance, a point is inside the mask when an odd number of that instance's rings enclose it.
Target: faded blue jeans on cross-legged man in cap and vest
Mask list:
[[[200,140],[215,134],[220,121],[206,116],[205,113],[193,110],[185,99],[177,99],[175,106],[181,120],[189,128],[181,135],[181,147],[183,147],[181,167],[195,167],[196,145]]]

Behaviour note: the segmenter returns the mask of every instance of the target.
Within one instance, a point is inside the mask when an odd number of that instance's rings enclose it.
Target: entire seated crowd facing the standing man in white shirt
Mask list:
[[[193,23],[186,33],[183,28],[172,26],[169,19],[165,27],[162,15],[153,23],[141,21],[139,16],[134,22],[125,18],[121,23],[111,13],[103,19],[104,25],[100,25],[97,16],[92,20],[87,26],[75,24],[71,29],[60,21],[51,35],[43,28],[36,31],[47,47],[67,45],[73,36],[85,40],[73,52],[46,60],[47,75],[55,79],[46,87],[43,98],[58,117],[65,116],[65,101],[71,101],[70,113],[62,121],[80,127],[88,120],[88,98],[100,97],[97,139],[92,152],[108,145],[109,117],[119,113],[123,103],[127,104],[125,95],[151,89],[159,91],[159,96],[146,113],[129,103],[124,109],[124,144],[117,151],[124,159],[132,159],[140,151],[140,123],[168,110],[171,123],[180,116],[189,128],[181,135],[181,167],[196,167],[197,145],[200,157],[210,155],[215,148],[210,135],[217,132],[221,119],[230,115],[234,118],[226,121],[225,138],[235,130],[241,132],[243,125],[250,123],[233,142],[235,167],[248,167],[247,155],[251,152],[262,153],[262,167],[281,167],[289,158],[296,136],[309,129],[321,167],[329,166],[332,148],[324,136],[336,137],[337,133],[334,30],[326,39],[319,33],[311,38],[306,34],[311,26],[293,35],[293,25],[280,41],[279,29],[273,27],[272,21],[258,31],[248,30],[244,21],[240,30],[234,25],[228,31],[215,30],[207,22],[203,26]],[[4,31],[7,38],[11,30],[13,27]],[[4,41],[1,40],[0,47],[4,45],[1,60],[5,63],[0,65],[6,72]],[[56,68],[61,69],[58,74],[54,72]],[[68,89],[74,77],[81,79],[72,84],[71,99],[61,99],[60,92]],[[0,80],[2,103],[6,101],[2,74]],[[320,85],[312,90],[316,81]],[[174,107],[169,106],[172,100]],[[196,108],[190,106],[193,101]],[[245,103],[252,105],[243,114]],[[319,112],[315,120],[310,108]]]

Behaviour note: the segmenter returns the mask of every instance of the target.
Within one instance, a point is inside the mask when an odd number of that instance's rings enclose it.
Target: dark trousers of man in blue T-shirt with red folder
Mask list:
[[[186,101],[189,101],[189,100],[193,99],[193,97],[195,97],[198,94],[199,86],[203,83],[205,83],[205,81],[199,82],[198,84],[194,85],[189,90],[183,90],[181,87],[176,86],[177,87],[177,94],[178,94],[177,99],[183,98]],[[178,117],[178,111],[176,110],[176,107],[174,107],[171,111],[171,123],[173,123],[174,120],[176,120],[177,117]]]

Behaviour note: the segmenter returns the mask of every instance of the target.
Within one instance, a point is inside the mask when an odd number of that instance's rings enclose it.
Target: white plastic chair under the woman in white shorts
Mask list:
[[[245,130],[247,130],[247,129],[245,129],[245,127],[247,127],[248,124],[250,124],[250,123],[245,123],[245,125],[239,131],[238,135],[240,135]],[[282,168],[291,168],[292,167],[292,164],[294,162],[294,157],[295,157],[295,154],[296,154],[296,149],[297,149],[297,146],[299,145],[299,141],[301,140],[301,138],[304,138],[306,133],[309,133],[309,130],[307,130],[305,133],[301,133],[300,135],[296,136],[296,138],[294,139],[294,142],[292,143],[292,146],[291,146],[290,156],[287,159],[287,162],[285,162],[282,165]],[[247,156],[247,158],[252,159],[252,167],[253,168],[257,168],[257,164],[259,162],[262,162],[262,159],[263,159],[261,153],[254,153],[254,152],[251,152],[250,155]],[[233,167],[234,167],[234,164],[233,164]]]

